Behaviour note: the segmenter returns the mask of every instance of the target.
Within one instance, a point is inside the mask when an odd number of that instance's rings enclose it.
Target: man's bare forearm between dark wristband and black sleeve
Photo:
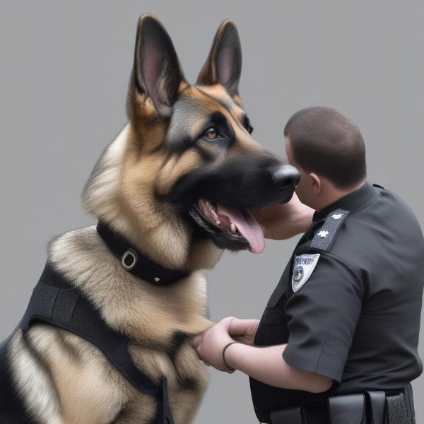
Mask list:
[[[290,367],[283,358],[285,346],[259,347],[235,343],[225,351],[225,360],[230,367],[274,387],[313,393],[331,387],[332,380],[328,377]]]

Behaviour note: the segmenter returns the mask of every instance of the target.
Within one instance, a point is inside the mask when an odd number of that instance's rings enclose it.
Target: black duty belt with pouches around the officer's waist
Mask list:
[[[330,396],[325,403],[271,411],[272,424],[415,424],[411,384],[399,394],[384,391]]]

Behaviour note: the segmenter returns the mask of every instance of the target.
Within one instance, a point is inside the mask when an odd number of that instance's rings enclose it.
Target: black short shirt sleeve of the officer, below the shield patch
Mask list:
[[[292,276],[285,304],[290,335],[283,358],[292,367],[340,384],[360,316],[363,283],[343,259],[321,252],[304,285],[293,292],[291,284]]]

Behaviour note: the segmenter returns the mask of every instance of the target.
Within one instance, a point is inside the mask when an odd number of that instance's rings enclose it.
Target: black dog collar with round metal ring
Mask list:
[[[187,271],[165,268],[143,257],[122,234],[112,230],[110,225],[101,220],[98,221],[96,229],[110,251],[121,261],[122,267],[144,281],[165,285],[189,275]]]

